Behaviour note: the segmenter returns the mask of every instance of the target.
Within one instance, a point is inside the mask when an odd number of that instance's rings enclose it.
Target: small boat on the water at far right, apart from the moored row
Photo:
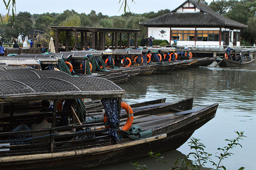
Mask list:
[[[230,53],[232,58],[219,57],[216,58],[217,65],[220,67],[242,67],[250,65],[254,59],[250,57],[250,50],[247,49],[235,49]],[[225,54],[226,55],[226,54]]]

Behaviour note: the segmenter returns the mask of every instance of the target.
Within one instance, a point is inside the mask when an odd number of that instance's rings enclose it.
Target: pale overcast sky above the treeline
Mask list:
[[[9,0],[5,0],[9,1]],[[102,12],[103,15],[114,16],[124,14],[124,7],[119,8],[123,0],[16,0],[16,13],[20,11],[30,12],[30,14],[43,14],[45,12],[56,12],[62,13],[65,10],[75,10],[79,14],[85,13],[90,14],[91,10],[96,11],[96,14]],[[179,5],[181,5],[185,0],[127,0],[128,6],[131,12],[135,14],[142,14],[145,12],[159,10],[174,10]],[[206,0],[210,3],[212,0]],[[127,9],[127,12],[129,10]],[[5,5],[2,0],[0,0],[0,14],[7,14],[5,10]]]

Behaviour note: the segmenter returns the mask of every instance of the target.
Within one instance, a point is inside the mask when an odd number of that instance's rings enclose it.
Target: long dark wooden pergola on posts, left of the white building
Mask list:
[[[65,41],[66,41],[66,51],[69,50],[69,32],[74,32],[75,42],[74,46],[77,46],[77,35],[80,33],[81,35],[81,46],[89,45],[87,40],[87,33],[91,33],[91,47],[96,50],[104,50],[105,49],[105,35],[106,33],[112,33],[112,47],[115,49],[118,48],[118,38],[120,40],[119,46],[121,48],[121,39],[122,33],[127,33],[127,46],[130,47],[129,40],[131,39],[131,33],[135,34],[135,46],[137,46],[137,38],[140,29],[121,29],[121,28],[92,28],[92,27],[51,27],[55,32],[55,49],[58,52],[59,48],[59,38],[58,35],[61,31],[65,32]],[[98,43],[99,41],[99,43]],[[115,42],[115,43],[114,43]],[[124,44],[125,45],[125,44]]]

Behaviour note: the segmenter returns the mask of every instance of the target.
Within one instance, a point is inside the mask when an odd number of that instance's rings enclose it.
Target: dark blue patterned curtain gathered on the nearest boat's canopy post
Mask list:
[[[108,134],[118,141],[117,128],[119,128],[118,98],[104,98],[101,100],[110,125]]]

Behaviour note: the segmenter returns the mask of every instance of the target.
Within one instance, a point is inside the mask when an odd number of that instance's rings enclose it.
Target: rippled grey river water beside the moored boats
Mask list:
[[[131,104],[166,97],[166,101],[178,101],[194,97],[194,107],[219,103],[216,117],[196,130],[192,135],[200,139],[205,151],[215,158],[217,148],[227,146],[225,139],[237,137],[234,131],[244,131],[246,138],[239,141],[241,147],[230,150],[234,155],[224,159],[227,169],[255,169],[256,167],[256,64],[247,67],[207,67],[174,70],[170,74],[135,76],[128,83],[119,84],[126,91],[124,100]],[[190,140],[188,140],[190,141]],[[187,141],[187,142],[188,142]],[[188,143],[175,151],[162,155],[172,163],[191,152]],[[135,169],[130,163],[145,164],[149,169],[169,169],[156,159],[146,157],[127,162],[106,165],[94,169]],[[211,164],[205,167],[214,168]]]

